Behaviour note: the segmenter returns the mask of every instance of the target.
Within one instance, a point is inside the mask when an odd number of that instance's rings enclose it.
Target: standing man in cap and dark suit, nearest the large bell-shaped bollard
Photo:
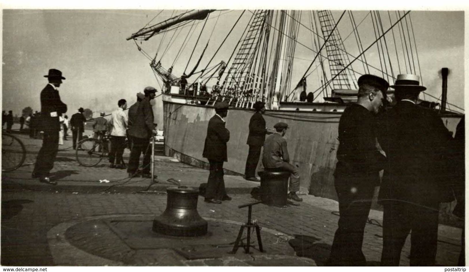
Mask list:
[[[223,180],[223,162],[228,161],[227,142],[230,140],[230,132],[225,128],[225,120],[223,119],[228,114],[228,103],[217,102],[214,108],[216,114],[208,122],[202,155],[210,163],[205,202],[220,204],[222,200],[231,200],[225,191],[225,181]]]

